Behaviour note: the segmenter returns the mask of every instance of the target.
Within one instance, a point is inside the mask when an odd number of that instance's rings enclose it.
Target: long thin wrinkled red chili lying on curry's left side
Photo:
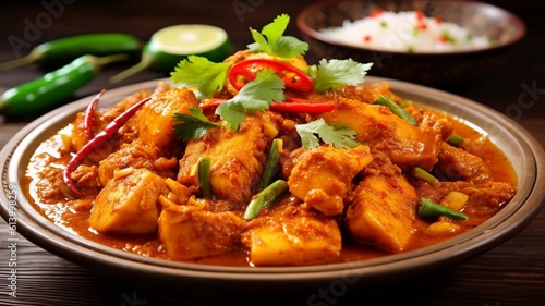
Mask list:
[[[80,164],[83,163],[83,161],[87,158],[87,156],[95,150],[98,146],[107,142],[109,138],[116,134],[123,124],[131,119],[134,113],[147,101],[149,101],[152,97],[147,97],[145,99],[142,99],[141,101],[136,102],[129,109],[126,109],[123,113],[118,115],[116,119],[113,119],[110,124],[108,124],[105,130],[102,130],[100,133],[95,135],[93,139],[87,142],[82,149],[77,154],[75,154],[72,159],[69,161],[66,167],[64,168],[62,172],[62,179],[64,181],[64,184],[69,187],[69,189],[74,193],[77,196],[83,196],[82,192],[77,189],[77,187],[74,185],[74,182],[72,181],[72,172],[74,172]]]

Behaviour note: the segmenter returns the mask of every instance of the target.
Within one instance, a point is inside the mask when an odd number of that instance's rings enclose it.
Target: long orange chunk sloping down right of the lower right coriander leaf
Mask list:
[[[441,132],[411,125],[387,107],[339,98],[337,107],[323,113],[328,123],[348,124],[356,140],[378,147],[402,169],[420,167],[432,170],[439,155]]]

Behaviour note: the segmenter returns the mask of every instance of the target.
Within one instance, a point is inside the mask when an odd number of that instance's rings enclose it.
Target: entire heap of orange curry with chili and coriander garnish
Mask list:
[[[308,65],[288,21],[225,62],[190,57],[171,83],[77,112],[29,160],[36,209],[125,252],[256,267],[408,252],[509,203],[517,179],[489,139],[365,83],[368,64]]]

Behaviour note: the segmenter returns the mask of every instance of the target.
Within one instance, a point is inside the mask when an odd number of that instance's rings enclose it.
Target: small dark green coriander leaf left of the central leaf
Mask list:
[[[181,122],[174,124],[174,136],[185,142],[199,139],[208,130],[221,126],[220,123],[209,121],[197,107],[190,108],[190,114],[174,113],[172,118],[174,122]]]

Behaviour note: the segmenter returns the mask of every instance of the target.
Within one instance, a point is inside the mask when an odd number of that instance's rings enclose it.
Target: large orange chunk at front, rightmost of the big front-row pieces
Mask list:
[[[390,252],[404,250],[416,219],[413,186],[402,175],[367,175],[354,193],[346,218],[350,234]]]

